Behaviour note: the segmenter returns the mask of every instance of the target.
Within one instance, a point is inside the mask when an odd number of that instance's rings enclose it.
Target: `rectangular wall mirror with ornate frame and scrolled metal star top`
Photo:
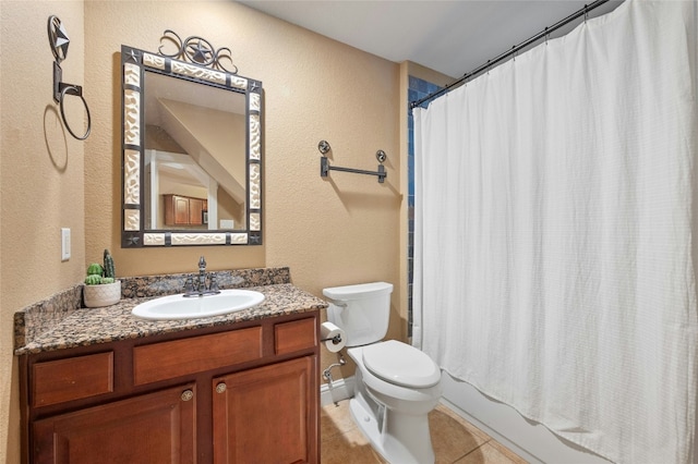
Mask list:
[[[227,49],[180,44],[121,47],[121,246],[262,244],[262,83],[215,69]]]

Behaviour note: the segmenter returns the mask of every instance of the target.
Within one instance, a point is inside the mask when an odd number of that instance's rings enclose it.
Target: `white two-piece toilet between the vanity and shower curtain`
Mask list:
[[[383,341],[390,316],[393,284],[324,289],[327,319],[346,334],[357,364],[351,415],[388,462],[433,463],[428,414],[442,394],[441,369],[425,353],[397,340]]]

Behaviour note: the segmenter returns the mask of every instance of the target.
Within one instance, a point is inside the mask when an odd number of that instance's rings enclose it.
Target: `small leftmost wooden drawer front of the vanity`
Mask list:
[[[113,391],[113,353],[36,363],[32,367],[34,407]]]

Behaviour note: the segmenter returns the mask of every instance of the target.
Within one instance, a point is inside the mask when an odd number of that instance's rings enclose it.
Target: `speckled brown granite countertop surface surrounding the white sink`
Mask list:
[[[53,320],[44,330],[24,339],[17,338],[19,329],[22,327],[17,328],[19,318],[15,317],[14,354],[24,355],[205,327],[227,326],[327,307],[325,301],[291,283],[272,283],[245,286],[245,289],[263,293],[264,302],[249,309],[198,319],[147,320],[131,314],[133,307],[155,296],[122,298],[115,305],[101,308],[75,308]],[[31,331],[27,327],[24,329],[25,332]]]

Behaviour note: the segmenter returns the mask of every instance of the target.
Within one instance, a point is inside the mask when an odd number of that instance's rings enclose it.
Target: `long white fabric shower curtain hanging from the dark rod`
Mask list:
[[[416,343],[616,462],[694,459],[695,9],[628,0],[413,111]]]

